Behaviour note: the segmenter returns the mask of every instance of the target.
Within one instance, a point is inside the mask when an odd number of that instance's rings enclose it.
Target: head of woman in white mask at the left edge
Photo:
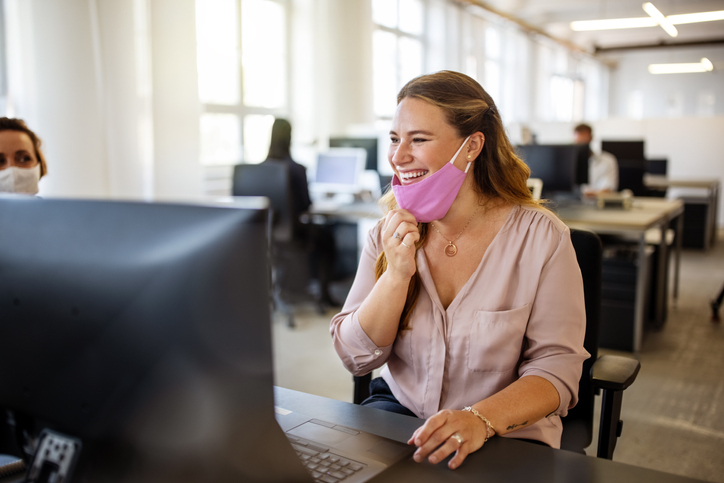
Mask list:
[[[38,194],[47,172],[40,138],[21,119],[0,118],[0,192]]]

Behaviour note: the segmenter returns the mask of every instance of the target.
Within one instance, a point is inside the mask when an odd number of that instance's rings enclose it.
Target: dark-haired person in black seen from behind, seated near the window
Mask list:
[[[312,205],[307,184],[307,170],[295,162],[291,155],[292,125],[286,119],[277,118],[272,124],[269,153],[264,162],[282,162],[289,166],[292,191],[294,238],[311,245],[310,263],[319,281],[319,302],[328,306],[339,306],[329,293],[329,284],[334,269],[334,234],[330,227],[305,224],[301,215]]]

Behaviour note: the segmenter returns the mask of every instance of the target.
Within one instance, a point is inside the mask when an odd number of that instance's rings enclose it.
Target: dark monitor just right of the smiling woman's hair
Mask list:
[[[543,197],[575,193],[588,182],[587,144],[526,144],[516,147],[530,168],[530,177],[543,181]]]

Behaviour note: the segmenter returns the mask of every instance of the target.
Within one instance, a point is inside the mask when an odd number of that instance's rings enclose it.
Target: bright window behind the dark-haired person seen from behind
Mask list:
[[[201,162],[259,163],[288,112],[286,0],[196,0]]]

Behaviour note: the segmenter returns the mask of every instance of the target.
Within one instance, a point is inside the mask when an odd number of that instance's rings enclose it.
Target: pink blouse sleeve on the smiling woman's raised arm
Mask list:
[[[380,225],[370,230],[360,256],[359,267],[342,311],[332,318],[330,333],[342,363],[355,376],[382,366],[392,352],[392,344],[380,347],[372,342],[359,323],[358,311],[375,285],[375,264],[381,252]]]

